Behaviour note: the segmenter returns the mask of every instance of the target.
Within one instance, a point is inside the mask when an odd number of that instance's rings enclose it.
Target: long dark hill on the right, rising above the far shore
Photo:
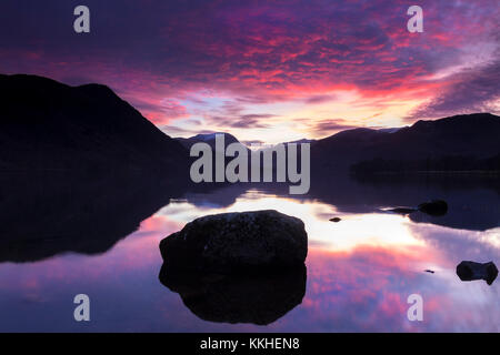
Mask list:
[[[490,113],[418,121],[397,131],[354,129],[314,142],[316,175],[371,160],[422,161],[447,156],[488,160],[500,153],[500,116]]]

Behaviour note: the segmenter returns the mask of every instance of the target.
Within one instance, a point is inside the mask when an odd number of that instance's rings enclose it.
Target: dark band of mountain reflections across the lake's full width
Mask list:
[[[417,223],[486,231],[500,225],[500,193],[484,179],[359,182],[347,176],[317,182],[308,195],[289,195],[288,184],[170,185],[143,174],[84,176],[68,173],[0,175],[0,262],[33,262],[66,252],[99,254],[140,223],[182,199],[197,206],[228,207],[251,190],[331,204],[338,213],[376,213],[439,197],[448,213],[409,214]]]

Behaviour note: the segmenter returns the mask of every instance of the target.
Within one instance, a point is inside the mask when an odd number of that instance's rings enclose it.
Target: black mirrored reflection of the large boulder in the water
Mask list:
[[[159,278],[203,321],[267,325],[302,303],[307,268],[233,276],[177,272],[163,264]]]

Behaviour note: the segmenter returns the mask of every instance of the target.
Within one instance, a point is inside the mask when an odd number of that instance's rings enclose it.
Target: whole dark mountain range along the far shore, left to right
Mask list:
[[[0,75],[0,171],[128,170],[189,180],[191,145],[206,142],[214,148],[216,133],[171,139],[104,85],[69,87],[34,75]],[[226,145],[238,142],[223,134]],[[378,171],[380,164],[397,162],[414,162],[407,165],[423,170],[443,161],[453,161],[459,170],[490,166],[500,154],[499,138],[500,118],[474,113],[297,142],[311,143],[312,171],[320,176],[360,163],[364,170],[358,171]]]

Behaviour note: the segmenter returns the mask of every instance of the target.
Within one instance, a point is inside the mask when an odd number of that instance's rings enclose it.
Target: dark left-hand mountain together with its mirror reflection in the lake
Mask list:
[[[99,84],[0,75],[0,263],[100,254],[181,196],[188,151]]]

